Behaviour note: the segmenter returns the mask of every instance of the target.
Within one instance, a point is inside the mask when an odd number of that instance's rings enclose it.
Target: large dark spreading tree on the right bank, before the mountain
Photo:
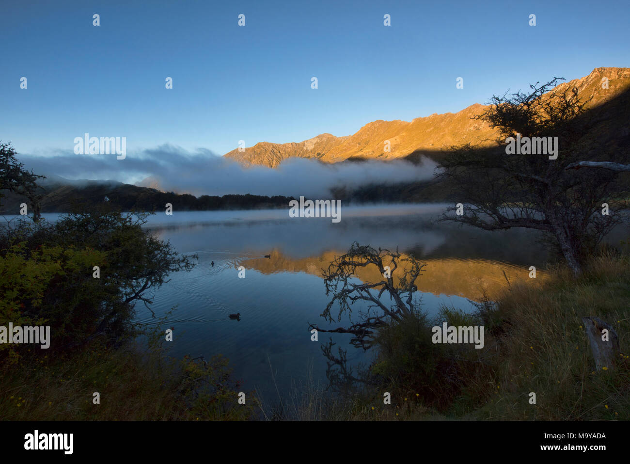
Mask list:
[[[529,93],[493,96],[477,119],[499,130],[498,148],[466,144],[447,154],[438,175],[458,186],[454,198],[465,206],[463,214],[455,215],[457,205],[449,207],[442,220],[491,231],[512,227],[544,231],[573,273],[580,275],[585,258],[622,220],[613,211],[602,214],[602,205],[619,193],[614,182],[619,171],[567,168],[593,156],[625,161],[627,153],[602,153],[588,136],[600,121],[585,114],[588,101],[578,98],[575,87],[545,95],[558,79],[562,78],[536,83]],[[507,137],[558,137],[557,158],[508,153]]]

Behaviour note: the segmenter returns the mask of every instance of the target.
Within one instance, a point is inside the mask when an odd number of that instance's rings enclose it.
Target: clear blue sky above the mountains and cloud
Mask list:
[[[630,66],[629,1],[61,0],[2,10],[0,139],[23,154],[71,153],[84,132],[125,136],[128,151],[224,154],[241,139],[344,136]]]

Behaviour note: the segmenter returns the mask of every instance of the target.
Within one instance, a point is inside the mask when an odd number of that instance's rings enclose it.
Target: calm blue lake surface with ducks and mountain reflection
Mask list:
[[[353,241],[390,248],[427,262],[418,282],[421,307],[473,310],[469,299],[510,280],[525,279],[529,266],[544,268],[547,255],[537,234],[514,229],[487,233],[436,224],[443,205],[345,207],[339,223],[329,218],[290,218],[287,210],[174,212],[152,216],[146,227],[181,253],[196,253],[192,272],[173,274],[158,289],[153,310],[162,316],[177,306],[165,328],[174,327],[173,356],[226,356],[243,391],[258,390],[273,402],[292,383],[328,385],[321,345],[333,337],[347,349],[348,364],[369,364],[373,353],[355,349],[351,335],[319,333],[329,327],[321,313],[329,301],[321,269]],[[265,255],[271,255],[265,258]],[[211,262],[214,261],[214,266]],[[239,278],[239,266],[245,278]],[[141,322],[155,323],[138,305]],[[228,315],[241,313],[241,320]],[[356,317],[356,313],[353,313]],[[331,328],[348,325],[348,317]]]

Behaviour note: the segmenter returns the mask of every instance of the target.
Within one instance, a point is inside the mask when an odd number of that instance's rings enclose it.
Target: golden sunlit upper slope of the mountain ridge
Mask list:
[[[602,88],[602,78],[609,79],[607,89]],[[584,78],[559,84],[546,94],[547,98],[553,98],[557,91],[573,86],[578,88],[582,100],[592,98],[587,107],[594,107],[630,88],[630,68],[595,68]],[[275,168],[287,158],[316,158],[326,163],[337,163],[354,156],[386,160],[402,158],[416,150],[437,151],[464,142],[486,145],[495,141],[496,132],[484,122],[471,119],[486,108],[475,103],[457,113],[432,114],[411,122],[377,120],[364,125],[352,136],[321,134],[303,142],[260,142],[243,152],[236,149],[224,156],[246,166]],[[391,144],[389,153],[384,151],[385,141]]]

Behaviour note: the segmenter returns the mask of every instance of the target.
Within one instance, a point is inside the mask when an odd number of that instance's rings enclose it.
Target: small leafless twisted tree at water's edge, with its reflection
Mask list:
[[[382,279],[378,282],[357,282],[357,269],[375,266]],[[389,271],[386,268],[389,268]],[[343,313],[352,314],[352,306],[357,301],[366,301],[367,310],[359,310],[360,320],[350,322],[349,327],[333,329],[319,328],[315,324],[309,325],[309,330],[318,332],[352,333],[354,337],[350,343],[364,350],[369,349],[374,342],[375,331],[392,320],[401,320],[404,316],[416,312],[413,294],[418,291],[416,279],[422,275],[425,265],[416,258],[403,256],[396,250],[375,250],[371,246],[360,246],[354,242],[345,255],[335,257],[335,260],[323,270],[326,295],[333,294],[331,301],[321,314],[326,322],[335,322],[331,310],[339,306],[336,322],[341,321]],[[400,269],[399,269],[400,268]],[[394,272],[399,269],[394,281]],[[389,301],[387,301],[389,300]],[[353,376],[352,369],[347,368],[346,352],[338,347],[338,356],[333,353],[332,340],[322,347],[324,356],[328,359],[328,376],[331,385],[347,389],[347,386],[364,380]]]

